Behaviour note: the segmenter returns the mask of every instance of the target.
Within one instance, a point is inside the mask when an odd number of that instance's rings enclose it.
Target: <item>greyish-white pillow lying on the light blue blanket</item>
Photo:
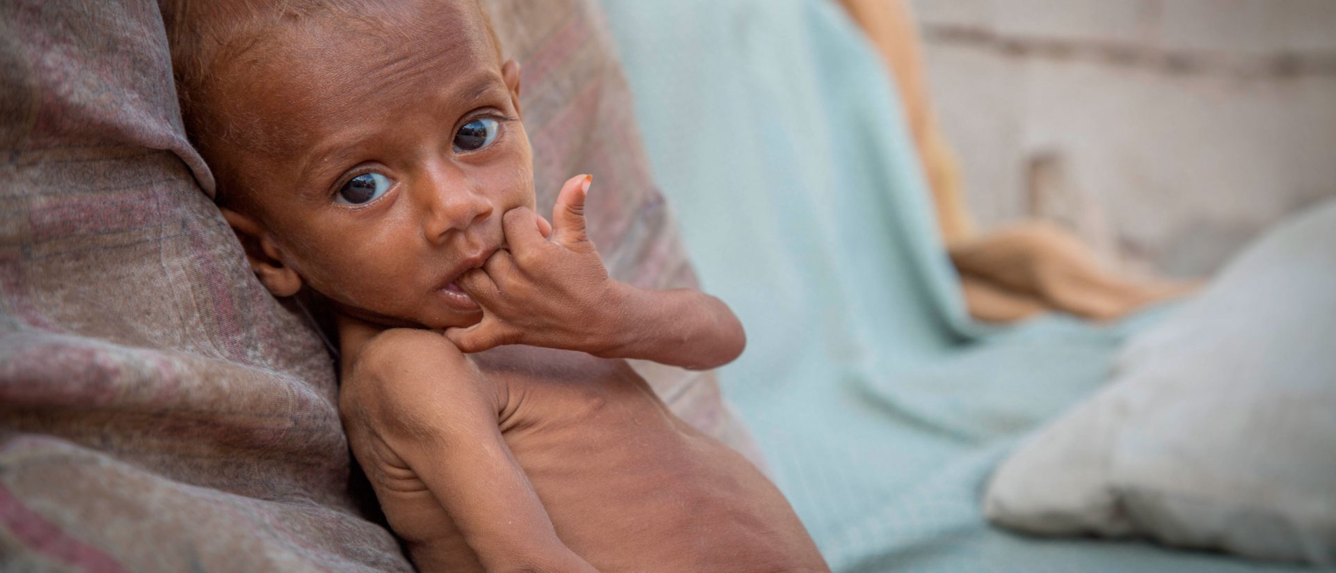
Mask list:
[[[990,520],[1336,565],[1336,200],[1250,246],[1116,373],[998,467]]]

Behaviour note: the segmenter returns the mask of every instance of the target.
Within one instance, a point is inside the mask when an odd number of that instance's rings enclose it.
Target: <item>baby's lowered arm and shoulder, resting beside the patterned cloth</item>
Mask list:
[[[420,524],[414,518],[430,510],[420,498],[402,497],[425,488],[486,570],[593,572],[557,538],[501,438],[498,402],[472,361],[422,330],[373,338],[339,395],[353,453],[420,568],[438,564],[426,560],[430,548],[414,548],[414,538],[438,532],[398,529]]]

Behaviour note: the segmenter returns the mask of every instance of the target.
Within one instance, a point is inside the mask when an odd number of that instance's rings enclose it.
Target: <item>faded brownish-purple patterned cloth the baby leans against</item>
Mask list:
[[[613,274],[693,284],[601,20],[490,4],[540,204],[596,174]],[[152,0],[0,0],[0,569],[409,570],[350,486],[333,361],[200,192],[175,98]],[[748,447],[711,375],[649,370]]]

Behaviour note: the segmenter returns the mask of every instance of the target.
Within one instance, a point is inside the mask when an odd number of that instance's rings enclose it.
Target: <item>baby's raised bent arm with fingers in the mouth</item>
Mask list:
[[[737,358],[745,334],[717,298],[687,289],[644,290],[608,276],[585,234],[589,182],[566,182],[552,226],[528,208],[505,214],[509,251],[497,251],[458,280],[482,306],[482,322],[449,329],[446,337],[466,353],[532,345],[697,370]]]

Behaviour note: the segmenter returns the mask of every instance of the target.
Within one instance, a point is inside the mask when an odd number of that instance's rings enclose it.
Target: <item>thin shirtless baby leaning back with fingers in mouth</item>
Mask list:
[[[274,295],[329,309],[353,453],[420,569],[828,570],[621,361],[715,367],[743,330],[611,279],[589,176],[534,212],[520,67],[476,0],[163,8],[223,214]]]

